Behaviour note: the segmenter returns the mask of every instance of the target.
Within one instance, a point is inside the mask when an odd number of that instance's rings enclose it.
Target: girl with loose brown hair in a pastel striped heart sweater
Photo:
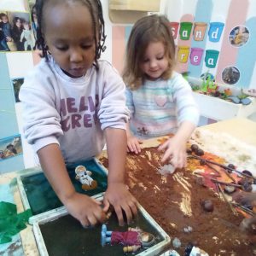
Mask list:
[[[127,125],[127,150],[138,154],[142,139],[175,133],[160,146],[162,161],[186,166],[186,143],[199,119],[189,83],[173,71],[175,44],[165,16],[151,15],[132,27],[126,50],[123,78],[126,104],[131,110]]]

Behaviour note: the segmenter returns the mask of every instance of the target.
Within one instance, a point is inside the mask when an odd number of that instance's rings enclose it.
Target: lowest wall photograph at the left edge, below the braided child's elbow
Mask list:
[[[6,160],[22,154],[20,134],[0,139],[0,160]]]

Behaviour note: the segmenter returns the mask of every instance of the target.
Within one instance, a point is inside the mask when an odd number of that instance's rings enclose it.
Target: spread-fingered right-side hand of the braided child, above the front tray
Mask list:
[[[124,225],[122,210],[125,212],[128,224],[130,224],[132,218],[137,215],[137,200],[131,195],[124,183],[108,184],[103,203],[104,212],[108,212],[108,208],[113,206],[120,226]]]

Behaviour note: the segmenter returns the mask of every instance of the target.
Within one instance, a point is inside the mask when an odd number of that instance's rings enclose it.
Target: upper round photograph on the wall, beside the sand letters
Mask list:
[[[236,26],[230,32],[230,44],[236,47],[241,47],[247,43],[249,32],[245,26]]]

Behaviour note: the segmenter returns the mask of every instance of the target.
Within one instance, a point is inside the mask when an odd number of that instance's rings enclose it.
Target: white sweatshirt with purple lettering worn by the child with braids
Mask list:
[[[107,127],[125,130],[125,84],[108,61],[98,61],[73,79],[50,58],[42,60],[20,88],[25,137],[37,152],[58,143],[66,162],[100,154]]]

